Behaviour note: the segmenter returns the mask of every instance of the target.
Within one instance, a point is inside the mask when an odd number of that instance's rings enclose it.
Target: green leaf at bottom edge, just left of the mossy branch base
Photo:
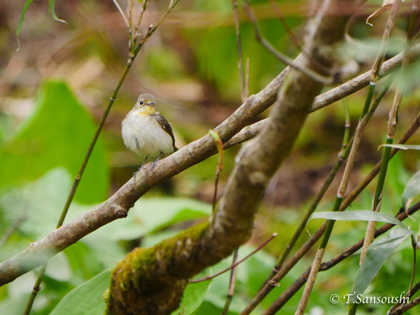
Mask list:
[[[102,295],[109,286],[111,270],[102,272],[74,288],[59,302],[50,315],[99,315],[106,307]]]

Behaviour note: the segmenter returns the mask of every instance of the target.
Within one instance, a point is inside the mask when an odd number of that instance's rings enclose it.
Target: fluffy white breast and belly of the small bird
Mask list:
[[[132,110],[125,116],[121,134],[125,146],[142,158],[174,152],[172,137],[160,127],[155,116]]]

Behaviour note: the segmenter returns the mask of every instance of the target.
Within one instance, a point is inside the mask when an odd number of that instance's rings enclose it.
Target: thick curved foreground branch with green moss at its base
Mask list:
[[[304,68],[316,69],[314,59],[326,66],[334,62],[332,45],[343,38],[346,17],[325,15],[330,2],[323,1],[322,9],[307,24],[304,50],[312,57],[301,55],[296,60]],[[290,71],[271,119],[239,151],[216,214],[209,222],[153,248],[136,248],[119,262],[106,294],[110,314],[170,314],[179,306],[191,276],[227,257],[251,237],[262,194],[293,148],[322,87],[301,71]],[[176,159],[176,153],[172,156]]]

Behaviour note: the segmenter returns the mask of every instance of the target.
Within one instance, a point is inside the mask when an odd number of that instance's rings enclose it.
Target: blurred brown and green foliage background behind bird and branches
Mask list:
[[[34,1],[27,8],[18,46],[16,29],[24,3],[0,2],[1,260],[22,251],[30,241],[45,237],[55,228],[97,122],[125,67],[128,51],[127,27],[111,0],[57,1],[55,13],[66,23],[50,18],[48,1]],[[255,41],[241,3],[239,1],[243,54],[244,59],[249,58],[249,92],[255,94],[281,72],[284,64]],[[125,8],[125,1],[121,0],[120,5]],[[163,0],[151,2],[144,16],[143,31],[159,20],[167,5],[168,1]],[[299,50],[290,41],[272,3],[260,0],[251,1],[251,5],[265,37],[278,50],[295,57]],[[367,1],[358,10],[349,27],[354,42],[343,43],[339,48],[343,59],[356,59],[360,73],[370,69],[381,40],[387,15],[376,18],[374,27],[365,24],[367,16],[380,5],[381,1]],[[309,1],[276,1],[276,6],[302,43]],[[387,57],[403,50],[410,6],[407,3],[402,8]],[[398,137],[419,110],[420,71],[417,71],[418,65],[413,69],[409,77],[405,76],[399,83],[405,88],[405,97]],[[377,148],[386,138],[392,91],[393,87],[365,130],[348,191],[381,157]],[[138,95],[144,92],[157,97],[158,109],[172,123],[179,148],[207,134],[241,105],[231,1],[180,1],[141,49],[94,148],[69,219],[106,200],[141,164],[137,155],[125,148],[120,124]],[[361,90],[347,98],[352,130],[360,116],[365,93],[366,90]],[[268,115],[269,111],[262,113],[255,121]],[[255,265],[247,265],[248,272],[243,272],[243,278],[239,276],[239,282],[243,281],[246,288],[239,289],[235,296],[238,300],[232,304],[232,314],[237,314],[237,309],[240,311],[242,302],[252,296],[265,279],[274,257],[283,251],[311,197],[321,188],[335,164],[342,145],[344,120],[342,101],[311,113],[295,151],[269,184],[249,246],[258,246],[273,232],[279,236],[265,248],[267,253],[249,262]],[[418,136],[411,141],[418,142]],[[235,147],[225,152],[219,195],[223,193],[238,150],[239,147]],[[406,151],[392,160],[383,202],[386,214],[393,215],[400,207],[402,190],[418,168],[418,155],[416,151]],[[217,156],[209,158],[161,183],[137,202],[127,219],[111,223],[57,255],[48,268],[33,314],[49,314],[71,288],[113,267],[133,246],[150,246],[205,218],[211,212],[217,160]],[[337,179],[341,179],[340,174]],[[338,183],[334,181],[319,210],[330,209]],[[352,209],[370,209],[372,190],[374,186],[358,198]],[[309,232],[314,232],[319,224],[321,221],[309,223]],[[417,223],[414,225],[416,227]],[[364,237],[365,223],[340,223],[334,233],[327,258]],[[307,237],[303,235],[298,245]],[[393,295],[384,288],[389,288],[388,274],[395,274],[397,269],[401,283],[393,281],[395,295],[406,288],[409,255],[407,246],[391,256],[388,265],[381,270],[382,276],[374,283],[375,293],[384,290],[387,295]],[[297,265],[282,287],[286,288],[299,276],[311,259],[308,257]],[[328,275],[321,274],[309,309],[327,312],[333,309],[328,296],[350,292],[357,261],[358,257],[349,259]],[[250,276],[253,266],[262,265],[264,272]],[[31,272],[0,288],[1,314],[22,314],[34,277],[35,273]],[[228,282],[223,284],[222,278],[218,281],[221,281],[220,288],[217,284],[214,287],[218,288],[216,292],[220,296],[208,298],[207,309],[202,310],[202,314],[220,314],[220,307],[223,308]],[[265,303],[269,305],[281,290],[278,288]],[[289,304],[290,309],[285,311],[291,314],[296,303],[290,301]],[[361,311],[363,314],[372,309],[365,307]],[[345,308],[343,312],[346,313]]]

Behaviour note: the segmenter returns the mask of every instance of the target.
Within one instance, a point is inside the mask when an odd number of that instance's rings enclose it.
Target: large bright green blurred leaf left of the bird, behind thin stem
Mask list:
[[[94,130],[92,118],[69,87],[62,81],[45,81],[38,92],[34,113],[0,148],[0,188],[33,181],[59,166],[68,169],[74,178]],[[83,203],[99,202],[108,188],[106,151],[99,139],[75,199]]]

